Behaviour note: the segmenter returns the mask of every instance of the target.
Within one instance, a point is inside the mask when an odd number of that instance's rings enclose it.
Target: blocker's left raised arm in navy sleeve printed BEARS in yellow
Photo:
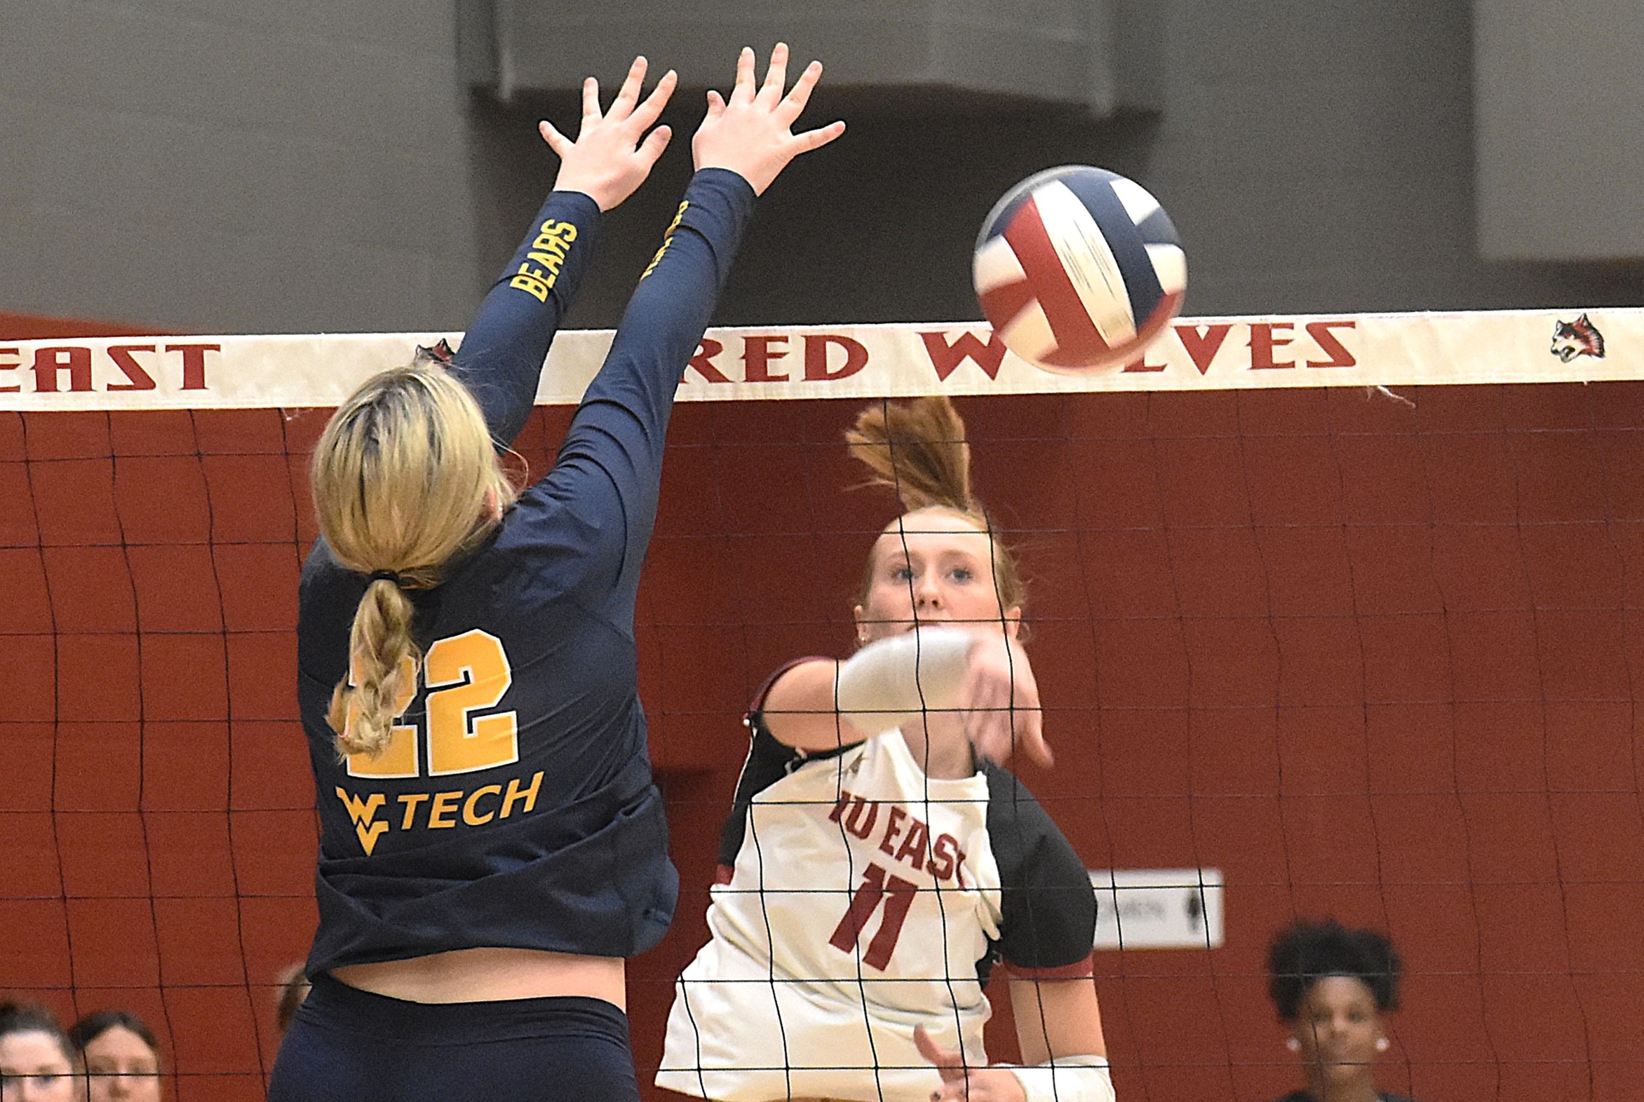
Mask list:
[[[455,373],[511,443],[536,401],[547,347],[593,255],[600,209],[582,192],[552,192],[462,338]]]

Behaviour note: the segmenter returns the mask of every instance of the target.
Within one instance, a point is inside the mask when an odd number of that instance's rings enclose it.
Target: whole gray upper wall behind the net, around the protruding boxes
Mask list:
[[[577,117],[566,97],[464,90],[452,0],[5,2],[0,310],[460,327],[552,181],[534,120]],[[1164,200],[1192,314],[1644,302],[1636,264],[1480,258],[1470,8],[1161,0],[1157,115],[819,95],[810,115],[850,131],[761,204],[718,319],[977,317],[977,225],[1070,161]],[[689,176],[700,95],[677,94],[674,148],[612,215],[572,324],[620,317]]]

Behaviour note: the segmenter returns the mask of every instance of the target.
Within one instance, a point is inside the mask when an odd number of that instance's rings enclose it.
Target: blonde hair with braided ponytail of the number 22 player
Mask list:
[[[367,379],[314,445],[314,516],[332,555],[375,576],[353,613],[344,677],[326,719],[337,752],[376,755],[393,736],[395,701],[416,682],[421,652],[404,590],[444,580],[515,499],[485,416],[469,389],[419,356]]]

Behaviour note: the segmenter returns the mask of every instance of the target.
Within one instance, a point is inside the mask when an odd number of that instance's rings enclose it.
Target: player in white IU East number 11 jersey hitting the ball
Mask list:
[[[746,716],[712,939],[656,1082],[725,1102],[1111,1099],[1088,874],[995,764],[1049,751],[963,422],[945,399],[883,404],[847,439],[909,511],[868,555],[860,650],[783,667]],[[983,1049],[1000,964],[1028,1066]]]

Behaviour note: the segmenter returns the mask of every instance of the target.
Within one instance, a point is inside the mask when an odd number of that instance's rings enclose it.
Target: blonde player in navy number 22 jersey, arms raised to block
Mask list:
[[[515,493],[531,412],[602,210],[667,141],[667,76],[585,87],[556,191],[442,363],[368,379],[314,450],[322,539],[298,599],[321,818],[319,930],[270,1102],[638,1102],[625,959],[672,918],[646,755],[635,593],[674,391],[763,192],[843,131],[791,126],[787,48],[709,94],[697,172],[554,466]]]

